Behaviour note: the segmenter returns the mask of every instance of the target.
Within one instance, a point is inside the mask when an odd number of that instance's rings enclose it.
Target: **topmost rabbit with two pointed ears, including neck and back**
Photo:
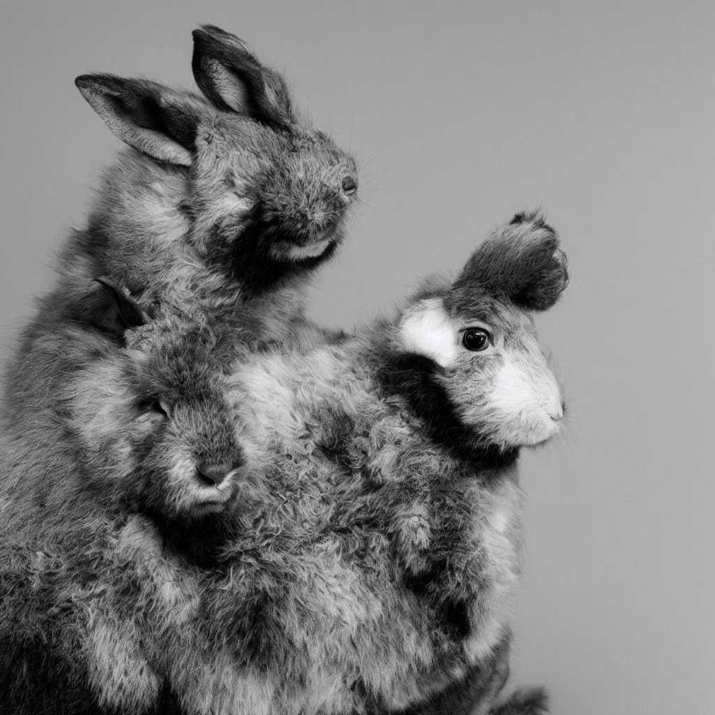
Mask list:
[[[122,343],[112,320],[124,317],[97,313],[107,301],[97,278],[128,291],[145,319],[219,322],[247,345],[320,334],[302,290],[342,240],[355,162],[302,122],[282,77],[235,36],[197,30],[193,65],[203,94],[77,79],[130,148],[104,174],[6,370],[0,421],[19,440],[55,419],[48,405],[68,373]]]

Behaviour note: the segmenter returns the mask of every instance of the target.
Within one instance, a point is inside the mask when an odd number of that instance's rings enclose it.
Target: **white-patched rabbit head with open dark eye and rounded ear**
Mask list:
[[[536,445],[563,418],[561,389],[533,313],[566,287],[566,256],[539,215],[517,215],[470,257],[448,287],[425,290],[405,312],[400,350],[424,359],[455,418],[483,445]]]

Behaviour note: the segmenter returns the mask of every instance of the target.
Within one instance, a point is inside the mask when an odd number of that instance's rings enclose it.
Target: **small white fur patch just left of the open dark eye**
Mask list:
[[[439,298],[422,300],[400,321],[400,339],[405,350],[425,355],[448,368],[457,359],[458,330]]]

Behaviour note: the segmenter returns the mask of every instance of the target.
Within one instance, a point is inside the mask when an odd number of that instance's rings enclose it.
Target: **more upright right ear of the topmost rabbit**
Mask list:
[[[194,79],[217,109],[250,114],[266,124],[290,122],[290,94],[280,74],[262,66],[237,36],[220,27],[203,25],[193,36]]]

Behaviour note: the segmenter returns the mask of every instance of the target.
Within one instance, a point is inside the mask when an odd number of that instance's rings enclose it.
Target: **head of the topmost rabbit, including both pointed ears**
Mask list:
[[[202,96],[109,74],[76,84],[120,139],[185,174],[189,240],[209,265],[248,292],[310,272],[342,240],[355,159],[300,119],[285,79],[236,36],[194,31],[192,66]]]

